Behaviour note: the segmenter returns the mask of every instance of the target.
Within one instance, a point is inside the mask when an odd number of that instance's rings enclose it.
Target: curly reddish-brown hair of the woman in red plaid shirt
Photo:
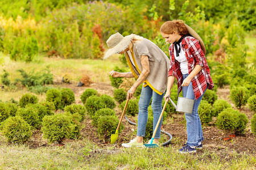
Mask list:
[[[186,28],[183,20],[169,20],[160,28],[160,32],[172,34],[176,31],[179,35],[187,35],[188,29]]]

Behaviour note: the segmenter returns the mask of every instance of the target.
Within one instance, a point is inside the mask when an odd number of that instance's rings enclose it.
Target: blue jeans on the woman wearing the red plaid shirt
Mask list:
[[[188,74],[183,74],[183,80],[187,76]],[[192,83],[190,83],[189,86],[183,86],[182,92],[183,92],[183,97],[187,97],[188,99],[195,99]],[[204,140],[201,121],[199,118],[199,114],[197,112],[203,95],[201,95],[197,100],[195,100],[192,114],[185,113],[185,119],[187,121],[187,138],[188,138],[187,144],[189,146],[197,146],[199,142]]]

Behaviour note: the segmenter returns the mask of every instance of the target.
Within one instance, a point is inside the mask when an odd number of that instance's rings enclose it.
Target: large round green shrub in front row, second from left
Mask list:
[[[42,122],[43,138],[49,143],[63,142],[63,139],[73,139],[79,137],[80,130],[68,114],[54,114],[45,116]]]

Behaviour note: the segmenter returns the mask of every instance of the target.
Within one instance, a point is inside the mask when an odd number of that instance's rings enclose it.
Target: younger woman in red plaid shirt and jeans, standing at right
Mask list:
[[[180,148],[180,153],[196,152],[202,148],[204,140],[201,121],[197,112],[204,92],[212,89],[213,82],[210,77],[209,66],[205,59],[205,46],[200,36],[183,20],[165,22],[160,28],[164,39],[171,45],[170,70],[168,71],[168,84],[164,100],[168,100],[171,88],[177,79],[178,92],[183,90],[183,97],[195,99],[193,111],[185,113],[187,121],[187,144]]]

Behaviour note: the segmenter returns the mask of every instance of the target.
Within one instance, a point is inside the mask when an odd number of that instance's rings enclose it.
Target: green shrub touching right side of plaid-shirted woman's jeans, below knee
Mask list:
[[[209,104],[206,100],[201,100],[198,108],[198,114],[201,120],[201,124],[207,125],[210,121],[212,121],[212,105]]]

